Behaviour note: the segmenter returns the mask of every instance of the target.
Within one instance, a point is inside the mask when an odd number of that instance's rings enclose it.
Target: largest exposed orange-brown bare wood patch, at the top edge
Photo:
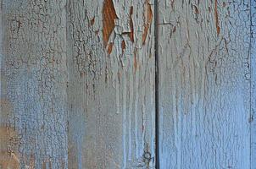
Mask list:
[[[103,43],[107,46],[109,36],[114,30],[114,19],[117,19],[117,15],[114,10],[114,4],[112,0],[105,0],[103,3]]]

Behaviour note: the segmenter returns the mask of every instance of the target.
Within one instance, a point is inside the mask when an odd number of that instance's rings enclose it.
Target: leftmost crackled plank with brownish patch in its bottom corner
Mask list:
[[[1,2],[1,168],[67,168],[64,7]]]

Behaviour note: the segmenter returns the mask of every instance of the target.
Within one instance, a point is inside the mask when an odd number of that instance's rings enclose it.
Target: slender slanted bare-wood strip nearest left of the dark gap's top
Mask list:
[[[143,31],[143,35],[142,35],[142,45],[145,45],[145,41],[147,38],[147,32],[148,32],[149,26],[152,23],[152,19],[153,19],[152,9],[148,2],[146,3],[146,13],[144,13],[144,14],[145,14],[146,21],[144,20],[144,31]]]

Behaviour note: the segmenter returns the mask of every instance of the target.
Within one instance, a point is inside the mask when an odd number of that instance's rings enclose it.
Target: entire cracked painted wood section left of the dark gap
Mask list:
[[[153,2],[1,3],[3,168],[154,168]]]

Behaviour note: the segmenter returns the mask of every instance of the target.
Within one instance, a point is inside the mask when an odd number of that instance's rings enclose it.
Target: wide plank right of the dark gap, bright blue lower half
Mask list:
[[[159,1],[160,168],[250,168],[249,8]]]

